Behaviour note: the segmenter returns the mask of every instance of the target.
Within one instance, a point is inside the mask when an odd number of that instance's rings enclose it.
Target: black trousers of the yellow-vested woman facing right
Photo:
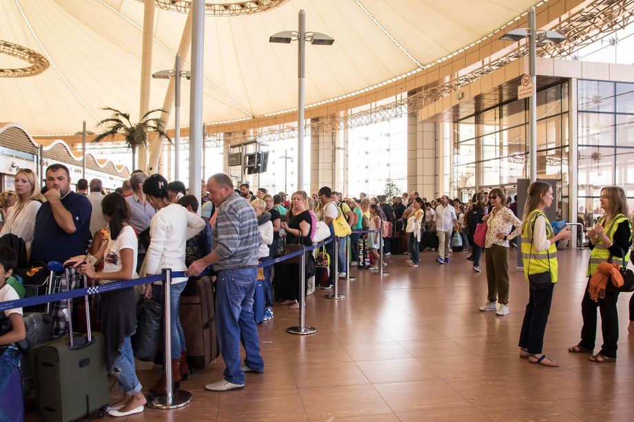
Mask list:
[[[535,288],[532,283],[529,284],[529,303],[526,304],[519,344],[529,353],[537,355],[542,353],[554,288],[555,283],[550,283],[544,288]]]

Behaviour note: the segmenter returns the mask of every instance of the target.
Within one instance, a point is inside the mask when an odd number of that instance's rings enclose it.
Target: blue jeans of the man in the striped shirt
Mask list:
[[[223,375],[226,381],[238,385],[245,384],[245,373],[240,369],[241,342],[247,366],[264,372],[258,328],[253,320],[256,273],[256,268],[221,270],[216,279],[216,328],[226,366]]]

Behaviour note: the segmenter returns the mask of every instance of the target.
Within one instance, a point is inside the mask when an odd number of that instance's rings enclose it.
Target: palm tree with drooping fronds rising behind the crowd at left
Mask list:
[[[117,109],[111,107],[104,107],[102,110],[110,110],[114,114],[110,118],[105,118],[99,122],[99,125],[103,125],[106,131],[103,134],[97,135],[92,142],[97,143],[100,140],[114,138],[116,134],[121,134],[124,137],[125,146],[132,149],[132,169],[136,165],[136,149],[141,145],[147,147],[147,136],[152,132],[156,132],[159,136],[167,139],[167,142],[172,143],[172,140],[167,136],[165,131],[165,121],[161,118],[150,118],[150,114],[154,112],[165,113],[163,109],[154,109],[143,114],[139,123],[132,123],[130,120],[130,114],[122,113]]]

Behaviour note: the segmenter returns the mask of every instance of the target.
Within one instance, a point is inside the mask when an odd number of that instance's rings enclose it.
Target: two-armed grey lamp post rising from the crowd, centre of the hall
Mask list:
[[[300,10],[298,14],[298,31],[282,31],[269,37],[269,43],[290,44],[298,41],[297,78],[298,78],[298,106],[297,106],[297,189],[304,189],[304,81],[306,78],[306,46],[332,45],[335,40],[320,32],[306,32],[306,12]]]

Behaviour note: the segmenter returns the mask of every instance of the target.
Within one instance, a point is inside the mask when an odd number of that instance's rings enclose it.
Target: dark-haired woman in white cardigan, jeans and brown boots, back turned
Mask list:
[[[143,182],[143,193],[156,214],[150,221],[150,246],[145,254],[142,274],[160,274],[163,268],[185,271],[185,242],[197,235],[205,227],[205,220],[187,211],[185,207],[172,204],[167,190],[167,180],[160,174],[152,174]],[[178,388],[182,375],[187,374],[185,356],[185,335],[178,318],[181,292],[185,289],[187,277],[172,278],[172,382]],[[145,297],[163,299],[163,285],[145,286]],[[150,389],[155,395],[165,394],[165,373],[156,386]]]

